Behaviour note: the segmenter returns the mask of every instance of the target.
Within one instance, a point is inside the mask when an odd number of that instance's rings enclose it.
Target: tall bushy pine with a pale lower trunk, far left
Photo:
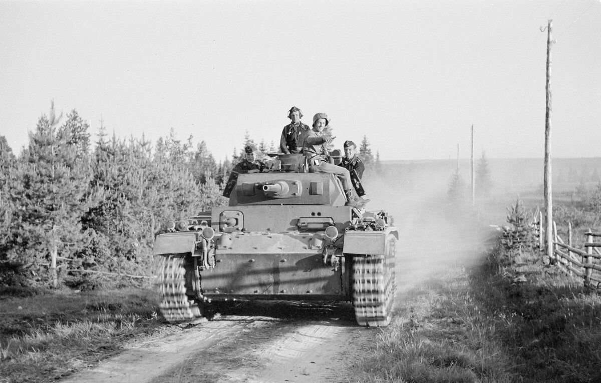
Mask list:
[[[90,193],[88,124],[73,110],[58,127],[53,104],[42,116],[22,155],[13,185],[20,209],[19,243],[24,263],[34,274],[50,263],[50,281],[58,285],[56,259],[69,258],[82,246],[81,216],[94,204]]]

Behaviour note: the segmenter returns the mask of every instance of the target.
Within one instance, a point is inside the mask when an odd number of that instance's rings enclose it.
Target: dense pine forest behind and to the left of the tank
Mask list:
[[[251,145],[260,158],[276,151],[248,132],[240,151],[219,163],[203,142],[171,129],[154,145],[144,136],[94,142],[73,110],[53,104],[16,156],[0,136],[0,285],[93,288],[153,274],[151,249],[165,223],[227,205],[222,196],[234,164]],[[364,137],[361,156],[379,166]]]

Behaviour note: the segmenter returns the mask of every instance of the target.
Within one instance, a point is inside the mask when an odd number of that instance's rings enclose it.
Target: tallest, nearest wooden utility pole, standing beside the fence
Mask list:
[[[553,253],[553,201],[551,198],[551,30],[553,20],[547,26],[547,106],[545,113],[545,243],[547,256],[554,262]]]

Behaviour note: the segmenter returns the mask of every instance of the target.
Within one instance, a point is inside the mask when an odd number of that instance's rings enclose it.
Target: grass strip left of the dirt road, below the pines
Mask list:
[[[47,382],[164,330],[145,289],[0,297],[0,382]]]

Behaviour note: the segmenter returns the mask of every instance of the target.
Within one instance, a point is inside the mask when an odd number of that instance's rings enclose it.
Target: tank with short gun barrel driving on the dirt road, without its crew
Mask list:
[[[345,206],[337,176],[307,172],[301,154],[240,174],[227,207],[157,235],[160,311],[195,323],[230,300],[348,301],[358,325],[386,327],[398,231],[386,211]]]

